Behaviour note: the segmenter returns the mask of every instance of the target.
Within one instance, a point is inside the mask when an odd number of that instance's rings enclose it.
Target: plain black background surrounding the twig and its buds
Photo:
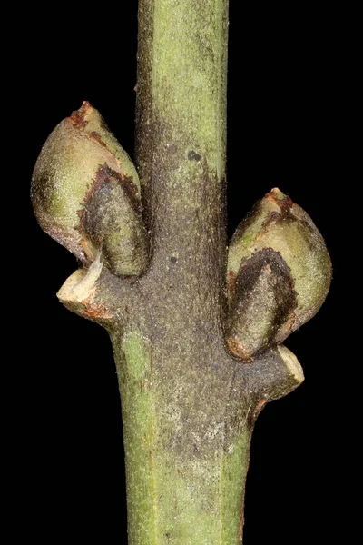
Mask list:
[[[19,82],[12,115],[24,143],[15,166],[26,223],[21,264],[14,267],[20,297],[12,323],[22,332],[14,345],[19,375],[11,405],[14,414],[21,407],[13,428],[20,444],[14,507],[21,521],[14,535],[25,530],[38,543],[126,543],[111,344],[102,328],[57,301],[55,292],[76,263],[40,230],[28,196],[44,140],[83,100],[101,111],[132,154],[137,3],[124,4],[117,14],[102,5],[97,11],[83,6],[77,12],[23,13],[29,24],[9,78]],[[342,38],[330,16],[312,8],[269,11],[231,3],[229,236],[252,204],[279,186],[308,211],[335,265],[327,302],[286,343],[306,381],[270,403],[254,431],[245,545],[329,542],[340,531],[338,513],[346,502],[338,490],[345,480],[340,441],[347,407],[336,394],[348,381],[338,375],[344,356],[336,329],[342,298],[337,211],[346,191],[345,69]],[[337,183],[342,194],[334,189]]]

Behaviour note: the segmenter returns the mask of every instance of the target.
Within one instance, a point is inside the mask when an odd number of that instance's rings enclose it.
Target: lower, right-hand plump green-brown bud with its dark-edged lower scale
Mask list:
[[[318,312],[331,263],[309,215],[279,189],[234,233],[228,258],[226,341],[244,361],[279,344]]]

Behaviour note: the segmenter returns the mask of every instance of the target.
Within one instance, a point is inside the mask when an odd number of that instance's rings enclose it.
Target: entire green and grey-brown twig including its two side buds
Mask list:
[[[303,381],[277,343],[297,323],[299,285],[304,319],[328,291],[329,280],[306,296],[316,241],[325,276],[329,256],[306,214],[299,237],[293,223],[282,243],[275,229],[269,250],[275,216],[255,213],[253,237],[248,223],[233,238],[226,287],[228,1],[139,5],[138,174],[85,104],[44,145],[34,208],[83,262],[59,299],[113,342],[129,545],[239,545],[254,421]]]

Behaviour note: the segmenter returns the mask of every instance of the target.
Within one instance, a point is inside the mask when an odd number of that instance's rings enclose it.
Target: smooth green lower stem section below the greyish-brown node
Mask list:
[[[113,336],[113,347],[123,402],[129,545],[239,544],[250,429],[208,457],[197,443],[192,457],[165,449],[160,433],[170,424],[157,411],[148,343],[132,332]]]

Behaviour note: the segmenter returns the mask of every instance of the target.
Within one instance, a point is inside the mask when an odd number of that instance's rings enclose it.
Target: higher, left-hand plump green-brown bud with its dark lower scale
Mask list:
[[[101,251],[103,263],[114,274],[140,274],[145,269],[147,236],[139,178],[91,104],[84,102],[49,135],[34,167],[32,201],[45,233],[83,265],[93,263]]]

